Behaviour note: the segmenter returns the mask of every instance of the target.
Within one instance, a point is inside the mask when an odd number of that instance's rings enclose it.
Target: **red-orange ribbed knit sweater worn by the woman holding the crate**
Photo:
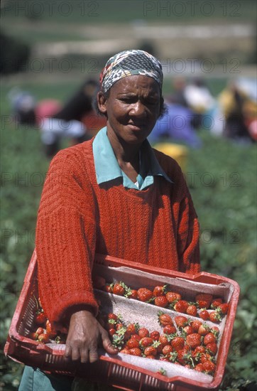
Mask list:
[[[59,323],[70,306],[97,312],[95,252],[180,272],[199,272],[199,225],[180,167],[155,151],[173,181],[155,176],[146,190],[119,179],[97,184],[92,140],[60,151],[50,164],[38,210],[40,300]]]

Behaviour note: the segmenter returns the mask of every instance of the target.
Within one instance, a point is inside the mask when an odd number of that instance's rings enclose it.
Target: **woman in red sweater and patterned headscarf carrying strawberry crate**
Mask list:
[[[55,156],[36,232],[43,308],[57,328],[69,327],[65,358],[82,363],[98,359],[99,340],[117,353],[95,318],[96,252],[199,272],[199,225],[182,172],[146,139],[164,112],[159,61],[142,50],[118,53],[100,83],[106,127]]]

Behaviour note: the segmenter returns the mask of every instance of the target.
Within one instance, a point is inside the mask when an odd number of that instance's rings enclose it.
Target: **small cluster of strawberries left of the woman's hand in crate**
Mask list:
[[[60,333],[60,331],[56,330],[45,316],[40,299],[36,299],[35,294],[33,294],[33,298],[36,304],[34,316],[35,331],[32,331],[29,337],[34,341],[42,343],[65,343],[67,331],[63,330],[65,332]]]

